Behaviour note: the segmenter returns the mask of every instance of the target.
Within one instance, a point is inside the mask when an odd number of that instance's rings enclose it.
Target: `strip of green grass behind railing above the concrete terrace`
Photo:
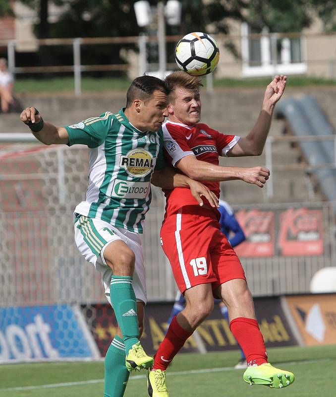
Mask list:
[[[215,79],[214,87],[265,87],[271,81],[271,77],[234,79]],[[131,80],[127,78],[91,78],[82,79],[82,92],[101,92],[113,90],[126,90]],[[336,85],[336,80],[322,77],[289,76],[288,83],[291,87],[302,87],[310,85]],[[204,79],[206,85],[206,79]],[[41,92],[69,92],[74,91],[74,80],[72,77],[59,77],[51,79],[17,79],[15,81],[15,92],[41,93]]]

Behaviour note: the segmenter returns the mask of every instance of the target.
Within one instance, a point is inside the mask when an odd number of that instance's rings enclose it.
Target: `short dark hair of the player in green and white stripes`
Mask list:
[[[134,99],[141,99],[144,102],[148,101],[156,90],[168,95],[165,82],[160,78],[148,75],[136,77],[127,90],[126,108],[131,106]]]

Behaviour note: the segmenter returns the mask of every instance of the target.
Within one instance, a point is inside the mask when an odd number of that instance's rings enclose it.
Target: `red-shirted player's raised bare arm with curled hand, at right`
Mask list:
[[[253,129],[227,152],[227,156],[260,156],[270,131],[272,115],[276,103],[286,87],[287,77],[275,76],[266,87],[264,100],[259,117]]]

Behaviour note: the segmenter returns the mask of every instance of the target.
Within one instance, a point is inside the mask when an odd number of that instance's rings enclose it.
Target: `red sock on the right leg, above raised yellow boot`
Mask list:
[[[265,342],[257,320],[237,317],[230,322],[230,330],[242,348],[248,366],[267,363]]]

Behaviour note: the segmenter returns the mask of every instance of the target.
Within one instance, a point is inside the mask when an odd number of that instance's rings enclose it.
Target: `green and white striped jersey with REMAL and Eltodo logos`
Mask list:
[[[65,127],[69,146],[89,147],[86,200],[74,212],[142,233],[151,202],[152,172],[165,167],[163,132],[136,129],[123,110]]]

